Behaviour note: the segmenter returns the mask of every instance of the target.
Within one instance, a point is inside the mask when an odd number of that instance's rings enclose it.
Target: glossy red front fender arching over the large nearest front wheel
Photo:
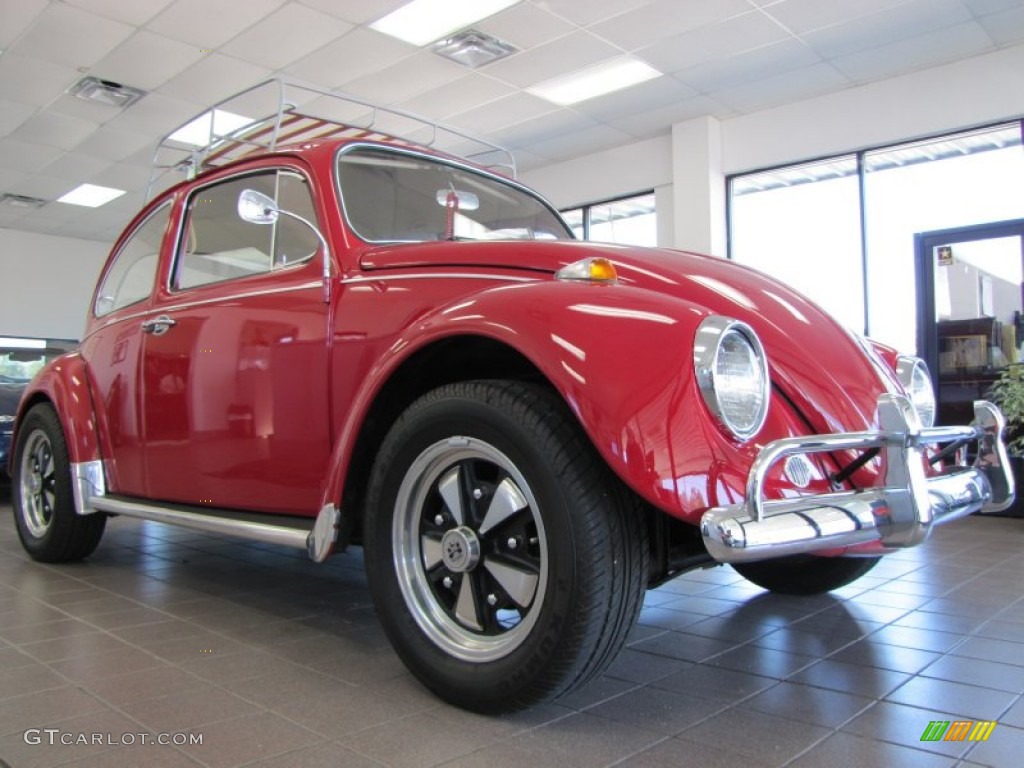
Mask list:
[[[335,443],[324,503],[340,499],[366,414],[401,365],[442,339],[482,336],[544,374],[625,482],[695,522],[721,496],[716,486],[742,487],[756,453],[718,428],[698,394],[693,339],[711,313],[630,286],[537,282],[488,289],[421,315],[364,380]]]

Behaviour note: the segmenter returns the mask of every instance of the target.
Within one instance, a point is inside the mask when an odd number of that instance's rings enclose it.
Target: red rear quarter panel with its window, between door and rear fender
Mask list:
[[[142,322],[154,291],[171,216],[158,206],[124,239],[99,283],[90,331],[82,340],[108,483],[128,496],[146,493],[139,425]]]

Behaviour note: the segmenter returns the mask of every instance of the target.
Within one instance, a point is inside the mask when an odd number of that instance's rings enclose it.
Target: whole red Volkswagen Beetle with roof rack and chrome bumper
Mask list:
[[[831,590],[1012,501],[993,406],[933,426],[920,360],[785,286],[577,242],[437,126],[415,143],[377,122],[410,116],[261,87],[270,118],[165,139],[194,177],[129,224],[81,348],[20,402],[36,559],[86,557],[110,515],[358,545],[409,668],[495,712],[599,674],[686,569]]]

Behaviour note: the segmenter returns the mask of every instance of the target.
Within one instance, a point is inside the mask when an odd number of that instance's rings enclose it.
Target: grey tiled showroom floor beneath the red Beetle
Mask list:
[[[1009,768],[1022,694],[1020,519],[939,528],[830,596],[684,574],[648,593],[603,677],[482,717],[406,672],[358,550],[315,565],[114,519],[88,561],[43,565],[0,489],[0,768]],[[932,720],[997,725],[984,742],[922,741]],[[44,729],[102,737],[50,745]]]

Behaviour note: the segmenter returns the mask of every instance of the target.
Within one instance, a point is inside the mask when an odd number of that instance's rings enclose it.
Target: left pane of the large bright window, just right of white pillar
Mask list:
[[[786,283],[855,331],[864,327],[856,157],[732,183],[732,258]]]

